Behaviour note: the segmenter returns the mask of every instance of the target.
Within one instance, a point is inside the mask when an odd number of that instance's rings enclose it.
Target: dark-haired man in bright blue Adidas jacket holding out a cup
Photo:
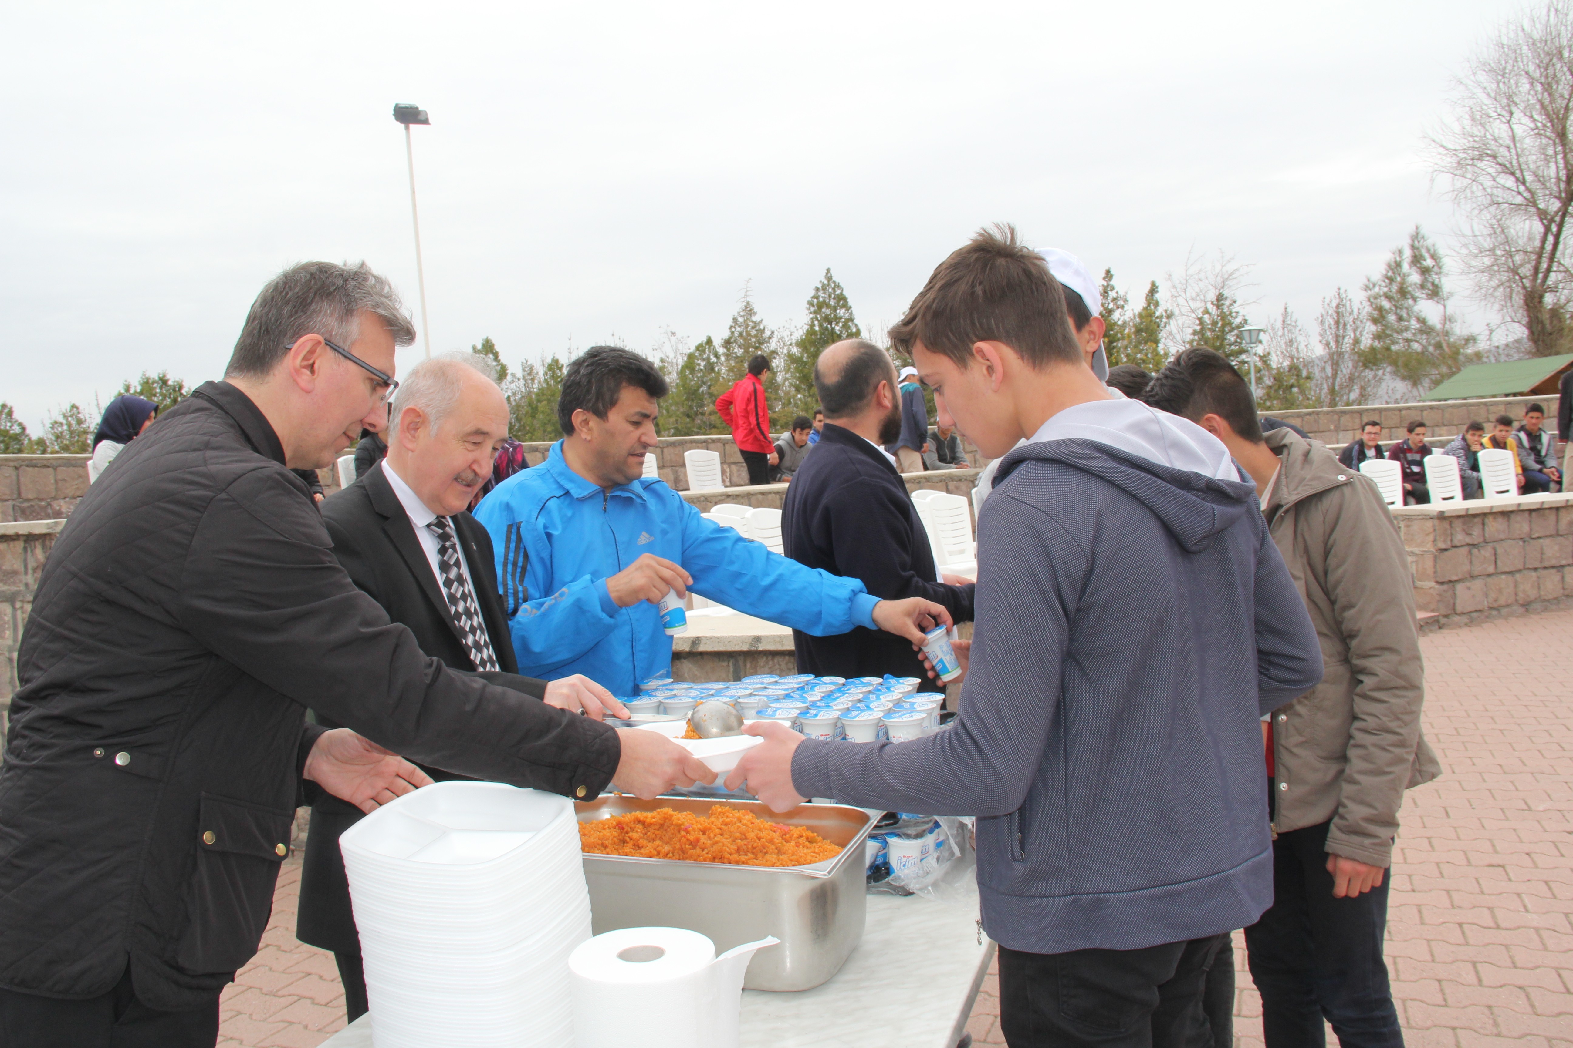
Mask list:
[[[475,509],[492,536],[519,672],[582,672],[613,694],[672,668],[658,602],[702,597],[827,636],[856,625],[922,643],[950,622],[930,600],[879,600],[856,578],[771,553],[700,517],[642,476],[667,382],[643,357],[596,346],[563,376],[565,438],[546,462],[499,484]]]

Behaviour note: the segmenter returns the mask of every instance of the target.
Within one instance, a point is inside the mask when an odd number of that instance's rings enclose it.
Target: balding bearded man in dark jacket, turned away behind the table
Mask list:
[[[824,431],[782,504],[786,556],[832,575],[860,578],[889,599],[925,597],[956,622],[972,621],[972,583],[941,580],[928,533],[892,457],[881,448],[900,437],[901,399],[895,365],[873,343],[846,339],[820,354],[813,385]],[[854,628],[840,636],[793,630],[798,672],[838,677],[925,677],[912,644],[892,633]]]

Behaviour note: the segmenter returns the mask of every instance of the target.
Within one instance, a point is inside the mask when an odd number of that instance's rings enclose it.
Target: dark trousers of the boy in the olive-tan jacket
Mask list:
[[[1324,822],[1279,834],[1273,905],[1246,929],[1266,1048],[1323,1048],[1323,1017],[1343,1048],[1403,1048],[1381,957],[1387,877],[1381,888],[1334,899],[1326,845]]]

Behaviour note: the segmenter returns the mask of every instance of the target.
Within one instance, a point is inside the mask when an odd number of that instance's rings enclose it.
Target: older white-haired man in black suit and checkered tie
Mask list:
[[[491,537],[464,511],[507,437],[508,404],[484,358],[448,354],[417,365],[393,401],[387,457],[322,504],[333,553],[355,586],[447,666],[596,720],[607,710],[626,716],[588,677],[516,676]],[[349,1021],[367,1010],[367,985],[338,837],[360,817],[333,797],[313,806],[296,925],[300,941],[333,952]]]

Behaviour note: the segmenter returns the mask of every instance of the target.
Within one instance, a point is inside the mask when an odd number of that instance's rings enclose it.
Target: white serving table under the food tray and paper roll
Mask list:
[[[977,919],[977,886],[955,892],[947,902],[868,896],[864,938],[829,982],[799,993],[742,991],[739,1048],[955,1048],[994,957]],[[371,1048],[371,1018],[321,1048]]]

